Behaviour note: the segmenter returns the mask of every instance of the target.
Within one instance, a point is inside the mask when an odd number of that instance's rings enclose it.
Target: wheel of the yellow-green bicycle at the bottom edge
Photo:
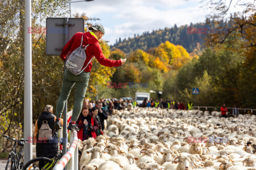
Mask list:
[[[39,162],[41,164],[39,164]],[[49,169],[53,169],[53,166],[51,165],[53,162],[53,160],[49,159],[49,158],[45,158],[45,157],[38,157],[35,159],[31,159],[29,160],[29,162],[27,162],[27,164],[25,164],[22,168],[22,170],[39,170],[42,169],[43,167],[45,169],[49,168]]]

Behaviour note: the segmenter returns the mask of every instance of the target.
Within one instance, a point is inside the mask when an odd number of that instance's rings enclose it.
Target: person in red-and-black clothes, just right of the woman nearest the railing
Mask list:
[[[99,130],[99,123],[96,119],[96,116],[98,114],[98,108],[93,107],[92,112],[89,112],[89,116],[87,116],[87,122],[88,122],[88,138],[93,137],[96,139],[97,137],[97,130]]]

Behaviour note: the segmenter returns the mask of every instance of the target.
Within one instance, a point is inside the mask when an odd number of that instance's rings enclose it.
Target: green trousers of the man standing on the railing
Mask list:
[[[73,107],[71,121],[77,121],[77,118],[82,110],[83,100],[88,87],[90,75],[91,75],[91,72],[85,72],[85,71],[83,71],[81,74],[78,74],[78,75],[72,74],[67,69],[64,71],[60,97],[57,101],[57,106],[56,106],[57,118],[61,117],[63,109],[65,107],[66,100],[69,97],[70,91],[76,84],[75,104]]]

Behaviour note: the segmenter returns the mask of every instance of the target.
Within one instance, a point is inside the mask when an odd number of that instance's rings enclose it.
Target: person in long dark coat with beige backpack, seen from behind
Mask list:
[[[58,129],[54,131],[56,116],[52,113],[53,106],[46,105],[35,124],[36,157],[53,158],[58,154]],[[60,120],[63,125],[63,120]],[[50,140],[49,140],[50,138]],[[52,140],[53,139],[53,140]],[[43,163],[39,163],[42,167]]]

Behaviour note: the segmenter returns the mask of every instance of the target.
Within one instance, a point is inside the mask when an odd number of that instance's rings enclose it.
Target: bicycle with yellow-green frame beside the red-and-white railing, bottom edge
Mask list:
[[[62,143],[60,145],[60,150],[58,151],[58,154],[52,158],[46,158],[46,157],[38,157],[35,159],[29,160],[27,162],[22,170],[50,170],[53,169],[53,167],[59,162],[60,158],[62,157]],[[68,150],[68,149],[67,149]],[[39,161],[44,163],[44,166],[42,168],[39,168]]]

